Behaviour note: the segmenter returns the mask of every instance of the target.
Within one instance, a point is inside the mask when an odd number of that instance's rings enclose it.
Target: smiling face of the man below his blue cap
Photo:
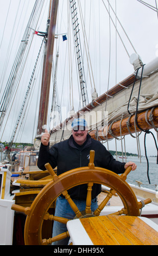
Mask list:
[[[88,130],[85,130],[85,127],[74,127],[72,129],[72,136],[74,141],[79,144],[83,145],[87,138]]]

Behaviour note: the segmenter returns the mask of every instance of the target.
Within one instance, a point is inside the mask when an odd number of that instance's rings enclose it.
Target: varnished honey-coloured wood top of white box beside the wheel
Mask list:
[[[81,218],[93,245],[158,245],[158,232],[134,216]]]

